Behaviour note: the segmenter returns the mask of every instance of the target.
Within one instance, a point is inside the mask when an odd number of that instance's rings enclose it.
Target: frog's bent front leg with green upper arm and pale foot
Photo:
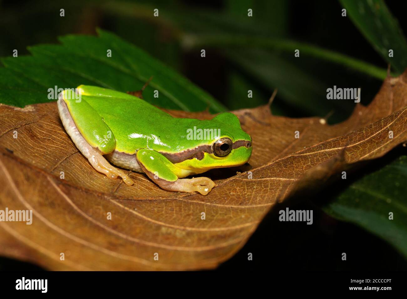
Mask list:
[[[197,191],[202,195],[206,195],[215,186],[215,183],[207,177],[179,179],[179,177],[188,176],[191,172],[178,168],[156,151],[143,148],[138,150],[136,155],[143,171],[164,190],[181,192]]]

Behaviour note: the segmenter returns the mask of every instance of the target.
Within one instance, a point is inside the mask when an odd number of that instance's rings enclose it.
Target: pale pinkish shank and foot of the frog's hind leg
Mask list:
[[[59,111],[59,116],[62,120],[63,127],[65,128],[66,132],[68,135],[71,137],[72,141],[74,144],[77,146],[79,151],[88,159],[89,163],[92,165],[92,167],[97,170],[98,172],[104,173],[107,177],[110,178],[116,178],[116,177],[121,177],[123,181],[127,185],[133,185],[133,181],[120,169],[115,168],[114,166],[110,165],[109,162],[103,157],[103,152],[98,149],[92,147],[88,141],[85,140],[81,132],[79,132],[77,125],[75,124],[70,111],[68,109],[66,101],[68,101],[68,104],[72,104],[72,101],[69,102],[70,100],[64,100],[63,99],[63,94],[61,93],[58,97],[58,111]],[[74,100],[73,100],[74,101]],[[86,105],[89,106],[85,101],[82,101],[81,103],[77,104],[82,104],[80,106],[81,109],[85,107],[85,109],[89,110],[89,107],[86,107]],[[72,105],[73,106],[73,105]],[[72,107],[71,106],[71,107]],[[71,112],[75,112],[75,109],[78,109],[79,105],[76,105],[76,107],[72,107]],[[90,107],[92,108],[92,107]],[[89,111],[88,111],[89,112]],[[96,113],[96,111],[95,111]],[[96,116],[95,116],[96,117]],[[100,118],[100,116],[97,115],[97,117],[100,119],[101,122],[103,120]],[[103,124],[107,127],[107,125],[103,122]],[[108,128],[108,127],[107,127]],[[116,145],[116,141],[114,141],[114,145]],[[102,146],[102,148],[108,148],[109,146]]]

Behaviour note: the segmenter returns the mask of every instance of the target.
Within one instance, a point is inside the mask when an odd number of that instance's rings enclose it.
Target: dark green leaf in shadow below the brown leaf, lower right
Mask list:
[[[323,210],[376,234],[407,258],[406,182],[407,156],[401,156],[352,183]]]

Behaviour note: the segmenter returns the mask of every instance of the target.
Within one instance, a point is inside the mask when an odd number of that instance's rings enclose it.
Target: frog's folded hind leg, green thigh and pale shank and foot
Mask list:
[[[109,127],[84,100],[77,103],[74,97],[70,97],[73,99],[67,98],[64,98],[64,93],[59,95],[58,111],[63,127],[79,151],[98,172],[102,172],[110,178],[121,177],[127,185],[133,185],[133,181],[122,170],[113,167],[103,157],[116,147],[116,139]],[[75,117],[76,123],[71,114]],[[78,127],[86,127],[89,124],[92,125],[92,130],[79,131]]]

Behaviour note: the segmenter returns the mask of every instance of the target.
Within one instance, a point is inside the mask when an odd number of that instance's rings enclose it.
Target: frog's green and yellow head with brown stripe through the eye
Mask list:
[[[249,161],[252,155],[252,138],[242,130],[236,115],[225,112],[212,120],[202,120],[197,124],[199,127],[195,131],[198,134],[199,129],[202,132],[205,128],[213,128],[214,134],[209,139],[196,138],[194,155],[177,166],[203,172],[212,168],[239,166]]]

